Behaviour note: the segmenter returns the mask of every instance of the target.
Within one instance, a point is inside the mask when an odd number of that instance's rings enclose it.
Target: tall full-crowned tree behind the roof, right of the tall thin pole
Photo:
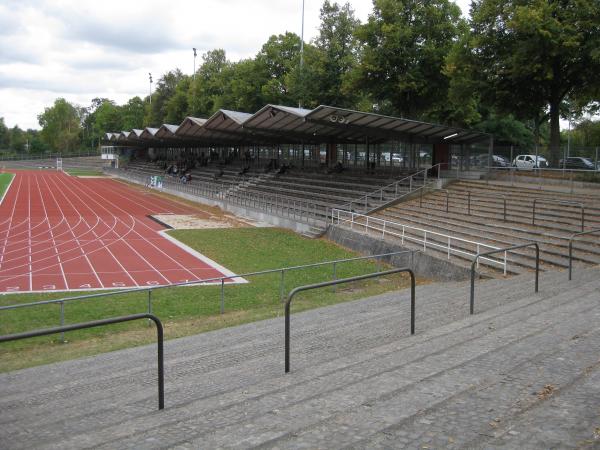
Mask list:
[[[362,57],[355,88],[379,112],[428,118],[446,101],[444,60],[458,35],[459,7],[449,0],[374,0],[358,27]]]

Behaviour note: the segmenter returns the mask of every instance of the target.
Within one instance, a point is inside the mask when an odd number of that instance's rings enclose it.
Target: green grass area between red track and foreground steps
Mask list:
[[[276,228],[177,230],[170,234],[228,269],[241,274],[358,256],[324,240],[303,238]],[[337,278],[375,272],[370,261],[339,264]],[[304,284],[332,279],[332,266],[302,269],[285,274],[285,292]],[[225,314],[220,314],[220,286],[165,288],[152,293],[153,312],[163,321],[167,338],[234,326],[283,314],[281,274],[249,277],[248,284],[225,287]],[[294,300],[301,311],[408,286],[403,275],[304,292]],[[0,304],[27,303],[64,294],[20,294],[0,297]],[[84,322],[147,311],[148,294],[130,293],[65,304],[65,323]],[[0,312],[0,334],[59,325],[58,305],[44,305]],[[68,333],[67,344],[59,336],[5,343],[0,346],[0,371],[153,342],[155,331],[144,321]]]

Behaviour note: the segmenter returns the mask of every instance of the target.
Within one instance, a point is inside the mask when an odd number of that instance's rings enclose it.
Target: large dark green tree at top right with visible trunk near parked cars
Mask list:
[[[561,103],[598,99],[600,2],[475,0],[472,27],[473,55],[495,103],[538,119],[548,108],[556,163]]]

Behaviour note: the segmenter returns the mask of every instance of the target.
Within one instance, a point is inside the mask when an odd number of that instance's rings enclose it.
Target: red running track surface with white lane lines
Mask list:
[[[190,214],[191,208],[110,179],[14,173],[0,204],[0,293],[148,287],[233,275],[166,238],[148,217]]]

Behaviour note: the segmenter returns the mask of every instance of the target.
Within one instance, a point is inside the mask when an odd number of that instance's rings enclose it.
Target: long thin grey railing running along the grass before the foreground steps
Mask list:
[[[186,282],[182,282],[182,283],[173,283],[173,284],[169,284],[169,285],[148,286],[148,287],[144,287],[144,288],[138,287],[138,288],[122,289],[122,290],[111,291],[111,292],[101,292],[98,294],[79,295],[76,297],[66,297],[66,298],[59,298],[59,299],[54,299],[54,300],[43,300],[40,302],[19,303],[16,305],[0,306],[0,311],[57,304],[60,307],[60,319],[59,319],[60,322],[59,323],[62,326],[62,325],[64,325],[64,322],[65,322],[65,304],[68,302],[85,301],[85,300],[102,298],[102,297],[117,296],[117,295],[124,295],[124,294],[138,293],[138,292],[147,292],[148,293],[148,313],[150,314],[150,313],[152,313],[152,301],[153,301],[152,292],[153,291],[156,291],[159,289],[171,288],[171,287],[193,286],[193,285],[198,285],[198,284],[202,284],[202,283],[213,283],[214,285],[216,285],[216,286],[220,285],[220,287],[221,287],[221,289],[220,289],[220,313],[224,314],[225,313],[225,282],[227,280],[234,280],[236,278],[245,279],[245,278],[249,278],[251,276],[280,273],[281,276],[279,278],[279,295],[280,295],[281,302],[283,302],[285,299],[285,274],[287,272],[291,272],[294,270],[302,270],[302,269],[307,269],[307,268],[312,268],[312,267],[331,265],[332,266],[332,276],[333,276],[333,279],[335,280],[337,277],[337,268],[338,268],[339,264],[346,263],[346,262],[352,262],[352,261],[361,261],[361,260],[366,260],[366,259],[378,260],[378,259],[393,257],[393,256],[406,254],[406,253],[410,253],[411,257],[412,257],[412,255],[415,252],[416,252],[416,250],[402,250],[399,252],[381,253],[381,254],[369,255],[369,256],[358,256],[358,257],[354,257],[354,258],[336,259],[336,260],[332,260],[332,261],[322,261],[322,262],[313,263],[313,264],[304,264],[304,265],[291,266],[291,267],[281,267],[278,269],[262,270],[262,271],[258,271],[258,272],[249,272],[249,273],[216,277],[216,278],[206,278],[203,280],[186,281]]]

